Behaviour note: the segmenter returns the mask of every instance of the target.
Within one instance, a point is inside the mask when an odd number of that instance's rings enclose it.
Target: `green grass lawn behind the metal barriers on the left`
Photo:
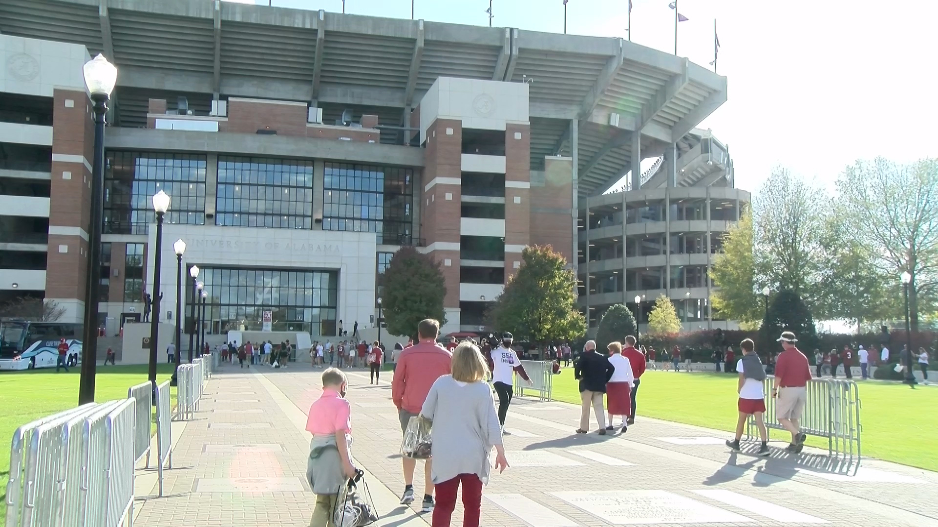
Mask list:
[[[30,421],[77,406],[80,371],[80,368],[71,368],[68,373],[29,369],[0,373],[0,408],[3,408],[0,414],[0,525],[4,525],[7,518],[9,446],[13,432]],[[98,366],[95,400],[127,398],[130,386],[146,382],[146,372],[146,365]],[[172,375],[172,364],[160,364],[157,382],[162,383]],[[175,406],[175,387],[170,395]]]

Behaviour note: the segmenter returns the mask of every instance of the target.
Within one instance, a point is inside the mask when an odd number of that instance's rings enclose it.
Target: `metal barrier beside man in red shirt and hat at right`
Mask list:
[[[784,428],[776,417],[776,399],[772,397],[773,377],[764,380],[765,427]],[[854,472],[860,465],[861,441],[859,390],[855,381],[812,379],[807,385],[808,399],[801,415],[801,431],[827,439],[827,455],[850,463]],[[755,437],[755,419],[749,416],[747,435]]]

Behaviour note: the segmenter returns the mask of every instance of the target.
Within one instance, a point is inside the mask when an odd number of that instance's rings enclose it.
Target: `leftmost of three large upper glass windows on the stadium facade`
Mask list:
[[[159,190],[173,199],[163,221],[204,225],[204,154],[108,152],[104,232],[147,233],[156,221],[152,198]]]

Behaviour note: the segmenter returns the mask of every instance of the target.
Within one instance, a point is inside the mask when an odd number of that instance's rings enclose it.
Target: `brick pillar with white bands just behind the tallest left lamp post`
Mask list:
[[[46,298],[66,309],[61,322],[82,322],[91,211],[94,122],[83,91],[53,94],[52,185]]]

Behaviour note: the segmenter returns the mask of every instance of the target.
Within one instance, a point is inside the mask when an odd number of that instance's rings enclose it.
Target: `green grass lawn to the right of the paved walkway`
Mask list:
[[[638,414],[732,432],[737,415],[736,380],[727,373],[647,371],[639,387]],[[857,384],[862,402],[863,455],[938,471],[938,457],[923,455],[938,436],[938,421],[930,412],[938,406],[938,389],[920,386],[912,390],[898,383]],[[580,404],[572,368],[553,377],[553,397]],[[773,439],[791,438],[787,432],[770,431]],[[827,448],[821,438],[809,438],[808,444]]]

